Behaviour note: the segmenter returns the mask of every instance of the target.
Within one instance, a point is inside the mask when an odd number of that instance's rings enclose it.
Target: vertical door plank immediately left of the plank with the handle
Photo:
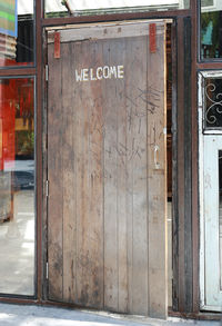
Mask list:
[[[129,115],[128,164],[132,200],[132,310],[148,314],[148,188],[147,188],[147,37],[129,39],[127,49]]]

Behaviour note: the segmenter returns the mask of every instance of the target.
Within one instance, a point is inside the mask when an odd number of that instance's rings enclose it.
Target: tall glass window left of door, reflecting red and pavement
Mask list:
[[[34,79],[0,79],[0,293],[34,295]]]

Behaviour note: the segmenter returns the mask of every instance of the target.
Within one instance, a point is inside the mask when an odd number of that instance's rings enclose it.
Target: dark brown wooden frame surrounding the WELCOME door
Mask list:
[[[192,8],[195,6],[192,3]],[[196,8],[195,8],[196,9]],[[193,10],[193,9],[192,9]],[[42,97],[42,157],[43,157],[43,168],[42,168],[42,248],[41,248],[41,284],[39,283],[39,288],[41,287],[41,297],[43,300],[48,300],[48,280],[47,280],[47,30],[48,29],[59,29],[67,26],[67,22],[72,24],[94,24],[102,22],[112,22],[117,21],[117,18],[122,21],[123,19],[141,20],[142,19],[171,19],[172,21],[172,79],[173,79],[173,89],[172,89],[172,206],[173,206],[173,239],[172,239],[172,256],[173,256],[173,285],[172,285],[172,307],[170,307],[170,314],[173,312],[183,312],[192,313],[199,312],[199,218],[194,216],[192,220],[192,214],[198,209],[195,206],[195,198],[198,200],[198,194],[190,195],[191,192],[191,174],[192,171],[198,172],[198,165],[191,166],[191,162],[188,161],[189,172],[186,178],[186,187],[184,185],[184,177],[181,172],[183,171],[185,151],[191,151],[189,146],[184,148],[183,135],[186,135],[186,127],[191,126],[191,121],[195,119],[195,112],[192,112],[193,108],[193,95],[195,92],[195,79],[191,82],[190,71],[192,76],[195,76],[194,72],[194,60],[195,52],[193,51],[194,41],[191,39],[191,28],[195,27],[195,19],[190,16],[190,10],[184,10],[183,12],[163,12],[153,14],[148,12],[144,17],[140,13],[133,14],[121,14],[120,17],[114,14],[112,17],[105,16],[102,19],[99,17],[92,17],[92,19],[84,18],[69,18],[69,19],[43,19],[42,21],[42,82],[44,89],[41,93]],[[88,22],[89,21],[89,22]],[[131,21],[131,20],[130,20]],[[192,85],[192,88],[191,88]],[[189,117],[185,117],[184,111],[189,110]],[[188,125],[189,122],[189,125]],[[189,127],[192,132],[195,134],[198,125],[193,126],[193,129]],[[190,131],[191,132],[191,131]],[[192,148],[196,147],[196,139],[194,137],[194,144]],[[196,154],[193,154],[192,157],[196,157]],[[196,168],[196,169],[195,169]],[[195,172],[195,175],[196,175]],[[184,171],[183,171],[184,174]],[[198,190],[198,185],[195,185],[195,177],[193,177],[194,189]],[[188,185],[189,181],[189,185]],[[188,196],[192,197],[186,202]],[[180,202],[179,202],[180,200]],[[194,200],[194,206],[191,208],[191,200]],[[184,201],[185,207],[190,207],[189,213],[184,214]],[[182,210],[180,209],[182,205]],[[193,227],[193,230],[192,230]],[[186,247],[184,246],[184,238],[189,235],[189,238],[192,241],[189,244],[189,250],[185,253]],[[40,261],[40,260],[39,260]],[[189,270],[189,273],[188,273]],[[171,312],[172,310],[172,312]]]

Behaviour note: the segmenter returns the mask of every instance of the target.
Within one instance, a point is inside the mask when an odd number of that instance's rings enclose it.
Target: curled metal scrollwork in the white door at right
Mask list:
[[[218,117],[218,115],[222,115],[222,92],[214,93],[215,91],[214,83],[205,86],[205,126],[208,127],[222,127]]]

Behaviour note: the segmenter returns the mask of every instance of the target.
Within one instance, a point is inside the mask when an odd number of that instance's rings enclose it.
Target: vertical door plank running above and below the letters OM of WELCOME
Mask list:
[[[114,43],[118,49],[119,43]],[[109,66],[113,41],[103,42]],[[113,59],[113,58],[112,58]],[[118,58],[119,60],[119,58]],[[117,58],[114,60],[117,62]],[[118,310],[118,80],[103,81],[104,106],[104,306]],[[121,110],[121,107],[120,107]]]

